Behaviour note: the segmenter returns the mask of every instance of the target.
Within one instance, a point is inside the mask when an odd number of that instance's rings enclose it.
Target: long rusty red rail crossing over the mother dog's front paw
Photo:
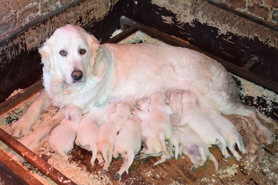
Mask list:
[[[75,183],[0,128],[0,140],[59,185]]]

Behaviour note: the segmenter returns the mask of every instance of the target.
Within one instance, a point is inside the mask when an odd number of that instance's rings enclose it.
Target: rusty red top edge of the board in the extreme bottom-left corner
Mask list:
[[[18,180],[23,184],[30,185],[43,185],[38,179],[36,179],[29,171],[20,166],[17,162],[12,160],[4,151],[0,149],[0,166],[3,167],[3,171],[6,171],[11,180],[18,184]],[[9,182],[10,183],[10,182]]]

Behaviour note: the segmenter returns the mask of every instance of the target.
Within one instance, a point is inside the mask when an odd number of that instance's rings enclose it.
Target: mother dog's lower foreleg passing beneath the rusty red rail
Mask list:
[[[22,143],[28,149],[34,151],[40,146],[41,142],[51,132],[51,130],[61,123],[63,118],[64,117],[61,114],[61,110],[59,110],[59,112],[57,112],[50,120],[43,122],[32,133],[20,140],[20,143]],[[23,158],[21,158],[11,149],[8,155],[14,160],[23,161]]]

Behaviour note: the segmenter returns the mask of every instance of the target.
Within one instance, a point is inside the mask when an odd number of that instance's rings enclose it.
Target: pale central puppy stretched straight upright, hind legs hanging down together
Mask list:
[[[161,92],[155,92],[151,95],[150,101],[150,128],[151,132],[156,135],[162,145],[161,160],[171,159],[173,155],[173,134],[172,125],[170,123],[170,115],[173,114],[172,108],[165,103],[166,96]],[[165,143],[168,141],[168,150]],[[148,151],[144,152],[149,154]],[[161,161],[160,161],[161,162]],[[156,164],[156,163],[155,163]],[[158,163],[159,164],[159,163]]]

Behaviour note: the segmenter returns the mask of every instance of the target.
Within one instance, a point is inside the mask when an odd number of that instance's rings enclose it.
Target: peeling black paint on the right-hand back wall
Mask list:
[[[196,3],[204,4],[200,1]],[[206,16],[205,12],[203,13],[203,16]],[[162,16],[171,17],[173,23],[165,23]],[[268,40],[260,41],[258,37],[252,39],[232,32],[219,35],[217,27],[202,24],[198,18],[191,23],[185,23],[179,22],[178,17],[180,14],[174,14],[165,7],[152,4],[151,0],[139,1],[134,6],[135,21],[182,38],[191,45],[237,66],[244,66],[246,62],[256,56],[259,62],[253,67],[252,72],[278,82],[278,49],[269,46]],[[229,38],[229,42],[226,41],[227,38]]]

